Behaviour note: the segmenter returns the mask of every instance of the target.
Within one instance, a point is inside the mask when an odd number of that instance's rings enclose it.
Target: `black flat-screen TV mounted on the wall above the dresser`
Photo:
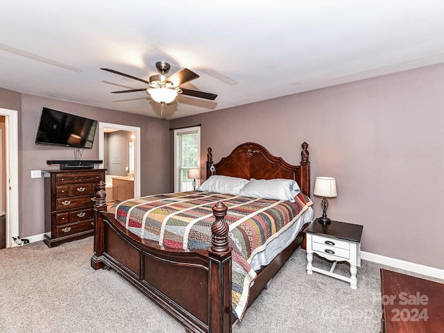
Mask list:
[[[96,127],[96,120],[42,108],[35,143],[92,148]]]

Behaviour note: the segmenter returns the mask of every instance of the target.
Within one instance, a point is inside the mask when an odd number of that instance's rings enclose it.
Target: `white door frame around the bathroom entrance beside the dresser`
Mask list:
[[[135,151],[135,171],[134,171],[134,194],[135,197],[140,196],[140,128],[135,126],[121,125],[119,123],[103,123],[99,122],[99,160],[103,160],[105,156],[104,146],[105,146],[105,128],[112,128],[114,130],[126,130],[128,132],[135,133],[134,140],[134,151]],[[103,168],[104,164],[100,164]]]

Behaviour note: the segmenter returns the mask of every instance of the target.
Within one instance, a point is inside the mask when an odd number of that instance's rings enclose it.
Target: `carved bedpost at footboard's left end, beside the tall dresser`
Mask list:
[[[99,181],[96,191],[96,203],[94,204],[94,255],[91,258],[91,266],[94,269],[103,267],[101,261],[103,255],[103,215],[101,212],[107,209],[105,182]]]

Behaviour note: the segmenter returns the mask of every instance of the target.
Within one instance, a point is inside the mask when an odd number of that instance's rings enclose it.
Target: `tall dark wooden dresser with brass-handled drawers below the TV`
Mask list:
[[[105,169],[51,170],[44,174],[44,243],[50,248],[94,234],[96,185]]]

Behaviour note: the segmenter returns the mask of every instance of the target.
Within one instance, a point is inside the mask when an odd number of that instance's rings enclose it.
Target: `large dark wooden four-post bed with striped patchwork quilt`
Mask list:
[[[114,206],[107,210],[105,183],[99,182],[94,207],[95,232],[94,255],[91,259],[92,268],[111,268],[117,271],[182,323],[187,332],[231,332],[233,323],[241,318],[245,309],[259,296],[268,281],[300,246],[303,240],[302,230],[311,222],[312,210],[309,206],[312,203],[308,197],[310,172],[307,147],[308,144],[304,142],[301,162],[298,166],[288,164],[282,157],[275,157],[264,146],[252,142],[237,146],[230,155],[223,157],[217,163],[213,162],[212,149],[208,148],[206,162],[208,180],[225,176],[250,180],[250,182],[252,182],[252,178],[253,180],[273,181],[276,179],[294,180],[300,187],[300,194],[291,203],[282,202],[282,200],[279,203],[268,203],[271,200],[251,198],[244,196],[245,193],[241,193],[241,195],[225,194],[200,189],[200,191],[191,191],[185,194],[162,194],[135,198],[119,204],[119,207]],[[210,176],[216,177],[210,178]],[[144,200],[143,205],[140,200]],[[187,206],[191,200],[198,201],[198,208]],[[235,233],[232,229],[233,221],[237,219],[239,211],[247,210],[246,207],[259,206],[264,207],[259,208],[262,216],[275,216],[274,210],[278,210],[278,205],[281,204],[287,207],[285,212],[296,211],[296,214],[291,218],[292,221],[282,222],[283,219],[276,218],[275,225],[281,224],[280,228],[282,228],[278,237],[271,236],[267,240],[262,234],[262,243],[259,246],[265,250],[259,250],[257,255],[252,256],[251,253],[254,253],[255,249],[251,248],[245,258],[239,259],[244,252],[247,252],[245,248],[248,247],[238,246],[239,241],[232,239],[232,234]],[[246,206],[244,207],[244,205]],[[266,205],[266,207],[261,205]],[[173,234],[171,241],[162,243],[157,239],[151,239],[151,233],[144,232],[144,230],[153,229],[146,228],[146,220],[142,221],[137,215],[136,217],[123,216],[123,214],[145,206],[148,207],[147,210],[139,212],[138,216],[151,216],[148,217],[151,220],[157,219],[155,216],[164,214],[185,216],[184,212],[173,211],[177,206],[185,206],[187,212],[193,210],[193,216],[197,216],[198,223],[196,224],[199,225],[199,230],[204,228],[205,231],[200,232],[195,240],[178,240],[176,237],[181,230],[178,225],[180,226],[182,221],[174,220],[176,224],[172,223],[172,225],[165,227],[161,223],[162,227],[160,227],[163,230],[162,237],[164,234]],[[159,206],[168,206],[167,213],[160,213]],[[228,209],[229,207],[230,209]],[[298,207],[300,207],[299,212]],[[272,208],[273,211],[271,211]],[[279,208],[279,210],[283,209]],[[157,214],[152,214],[153,212]],[[248,219],[246,217],[239,219],[241,221],[257,220],[256,218],[250,219],[250,216],[255,216],[253,213],[247,212],[246,214]],[[183,219],[186,220],[188,217],[185,216]],[[137,223],[144,227],[136,228]],[[243,225],[244,222],[237,224]],[[275,226],[273,228],[278,230]],[[190,228],[182,229],[187,230],[189,234],[193,233]],[[146,237],[145,233],[150,237]],[[284,233],[292,233],[291,237],[287,236],[284,248],[273,248],[273,244],[281,243]],[[202,239],[202,234],[205,236],[204,239]],[[247,235],[246,239],[249,237],[250,235]],[[194,244],[194,246],[188,248],[183,245],[184,242]],[[257,241],[255,242],[257,243]],[[196,246],[198,243],[201,243],[200,246]],[[160,244],[168,244],[168,246]],[[275,254],[272,257],[265,256],[267,257],[264,259],[266,265],[261,259],[255,262],[255,258],[266,253],[268,248],[272,248],[271,253],[274,251]],[[253,262],[255,263],[253,264]],[[244,268],[241,269],[242,274],[245,273],[241,277],[244,280],[238,280],[239,267]],[[238,283],[239,281],[240,283]],[[239,298],[234,290],[236,285],[237,287],[241,285],[241,289],[243,288],[239,291]],[[246,289],[246,296],[244,289]],[[234,297],[235,294],[236,297]],[[239,300],[241,300],[240,306]]]

